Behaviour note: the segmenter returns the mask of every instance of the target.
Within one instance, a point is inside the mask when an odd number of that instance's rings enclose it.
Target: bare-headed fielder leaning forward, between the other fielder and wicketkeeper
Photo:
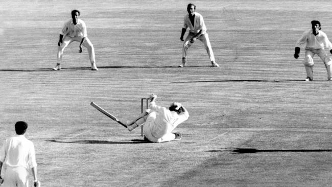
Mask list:
[[[211,43],[206,33],[206,27],[204,24],[203,16],[196,12],[196,5],[188,4],[188,14],[184,16],[184,24],[181,31],[180,40],[183,42],[182,48],[182,64],[179,67],[184,67],[187,61],[187,52],[190,46],[198,39],[204,43],[204,48],[210,58],[212,66],[219,67],[215,61],[214,52],[212,51]],[[187,37],[183,40],[185,31],[189,28]]]

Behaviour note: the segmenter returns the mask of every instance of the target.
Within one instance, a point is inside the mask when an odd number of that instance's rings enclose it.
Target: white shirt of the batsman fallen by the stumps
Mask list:
[[[189,118],[188,112],[177,114],[175,111],[157,106],[155,102],[150,102],[149,108],[156,112],[156,119],[150,124],[150,129],[151,134],[157,139],[171,133],[180,123]]]

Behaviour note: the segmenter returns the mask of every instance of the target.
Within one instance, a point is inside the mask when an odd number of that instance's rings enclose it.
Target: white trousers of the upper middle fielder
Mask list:
[[[188,33],[187,37],[185,38],[184,42],[183,42],[183,48],[182,48],[182,58],[187,58],[187,54],[188,54],[188,49],[190,48],[190,46],[192,46],[192,44],[194,43],[190,43],[190,40],[195,36],[196,34],[193,34],[191,32]],[[214,52],[212,51],[212,47],[211,47],[211,43],[209,40],[209,36],[207,33],[202,34],[200,37],[198,37],[197,39],[199,39],[201,42],[204,43],[204,48],[207,52],[207,55],[210,58],[210,61],[215,61],[215,55]]]

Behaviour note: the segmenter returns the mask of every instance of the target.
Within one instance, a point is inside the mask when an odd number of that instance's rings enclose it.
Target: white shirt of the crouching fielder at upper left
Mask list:
[[[77,24],[74,25],[73,18],[70,18],[64,23],[60,34],[70,37],[87,37],[85,22],[78,19]]]

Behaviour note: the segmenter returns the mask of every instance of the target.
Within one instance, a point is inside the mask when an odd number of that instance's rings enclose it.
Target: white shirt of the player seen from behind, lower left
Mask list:
[[[24,135],[10,137],[0,150],[0,161],[9,167],[37,167],[35,147]]]

